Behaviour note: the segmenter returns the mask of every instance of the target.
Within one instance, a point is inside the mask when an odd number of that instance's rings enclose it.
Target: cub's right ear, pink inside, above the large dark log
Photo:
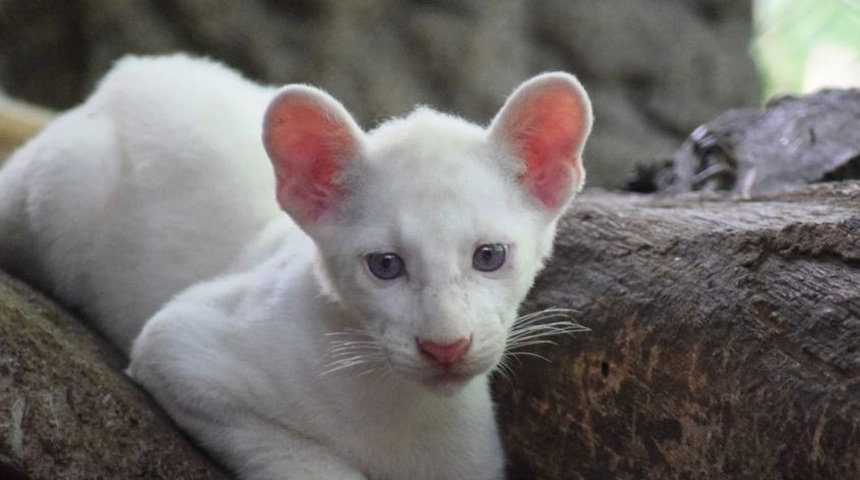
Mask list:
[[[591,103],[566,73],[538,75],[517,88],[490,126],[490,136],[523,161],[520,180],[556,210],[582,188],[582,149],[591,131]]]

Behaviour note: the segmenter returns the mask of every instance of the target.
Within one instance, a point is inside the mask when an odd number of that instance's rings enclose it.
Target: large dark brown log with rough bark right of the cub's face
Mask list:
[[[590,333],[496,384],[515,479],[860,472],[860,182],[587,194],[526,310]]]

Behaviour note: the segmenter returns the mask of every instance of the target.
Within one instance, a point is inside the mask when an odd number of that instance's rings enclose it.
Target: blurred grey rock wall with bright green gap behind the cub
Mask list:
[[[322,87],[371,128],[417,103],[487,123],[567,70],[596,112],[588,183],[615,187],[726,109],[826,84],[834,59],[850,80],[858,1],[0,0],[0,89],[65,109],[124,54],[187,51]]]

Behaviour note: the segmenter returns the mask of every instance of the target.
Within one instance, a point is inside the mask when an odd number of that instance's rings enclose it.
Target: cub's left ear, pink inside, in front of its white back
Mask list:
[[[343,106],[315,88],[289,86],[272,100],[263,143],[278,203],[298,224],[316,222],[342,196],[338,174],[358,154],[361,135]]]

